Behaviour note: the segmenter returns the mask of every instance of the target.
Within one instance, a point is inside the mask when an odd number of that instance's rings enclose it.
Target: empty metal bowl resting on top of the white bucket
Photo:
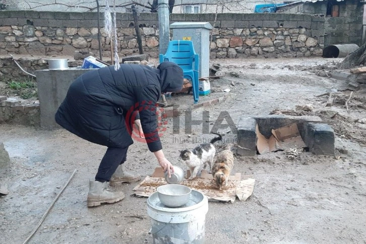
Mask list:
[[[187,204],[192,192],[189,187],[173,184],[160,186],[157,191],[160,202],[170,208]]]

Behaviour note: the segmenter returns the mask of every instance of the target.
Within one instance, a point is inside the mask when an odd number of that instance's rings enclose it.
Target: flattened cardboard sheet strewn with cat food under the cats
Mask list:
[[[189,170],[188,176],[189,177]],[[147,176],[138,186],[134,188],[134,195],[138,197],[150,197],[151,194],[156,192],[159,186],[166,185],[167,182],[164,178],[164,172],[162,168],[156,168],[151,176]],[[230,175],[228,186],[219,191],[213,182],[212,175],[206,170],[202,170],[201,176],[194,180],[184,179],[181,185],[185,185],[200,191],[208,199],[223,201],[223,202],[234,202],[236,197],[239,201],[246,201],[253,193],[255,179],[246,177],[241,180],[241,174],[236,173]]]

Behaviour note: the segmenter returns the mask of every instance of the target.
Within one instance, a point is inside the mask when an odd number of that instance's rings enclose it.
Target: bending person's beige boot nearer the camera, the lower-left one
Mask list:
[[[107,182],[90,180],[87,204],[88,207],[99,206],[102,203],[115,203],[125,198],[123,192],[106,190]]]

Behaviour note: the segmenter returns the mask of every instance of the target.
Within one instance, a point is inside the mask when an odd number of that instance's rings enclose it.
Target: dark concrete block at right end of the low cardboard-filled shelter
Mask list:
[[[317,155],[334,155],[334,131],[326,124],[303,124],[301,135],[309,151]]]

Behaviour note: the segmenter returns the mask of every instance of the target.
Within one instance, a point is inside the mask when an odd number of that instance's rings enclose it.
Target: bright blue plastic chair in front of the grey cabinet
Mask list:
[[[198,103],[199,100],[199,60],[199,55],[195,52],[192,41],[169,41],[166,53],[159,55],[160,64],[164,61],[177,64],[183,70],[184,77],[192,81],[194,103]]]

